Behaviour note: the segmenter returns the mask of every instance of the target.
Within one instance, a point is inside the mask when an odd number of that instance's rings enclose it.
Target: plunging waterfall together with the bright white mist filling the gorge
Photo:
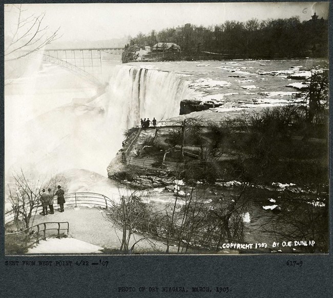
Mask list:
[[[68,71],[31,60],[5,88],[5,173],[53,175],[85,169],[107,176],[123,132],[140,118],[176,116],[191,94],[180,75],[127,65],[111,67],[104,94]]]

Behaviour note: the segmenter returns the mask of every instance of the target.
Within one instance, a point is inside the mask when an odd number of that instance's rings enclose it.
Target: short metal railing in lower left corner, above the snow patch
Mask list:
[[[64,227],[61,227],[63,225]],[[51,227],[48,227],[51,226]],[[52,232],[51,232],[52,231]],[[56,231],[56,233],[54,233]],[[38,243],[39,240],[45,240],[47,237],[60,236],[60,231],[69,232],[69,222],[68,221],[52,221],[52,222],[42,222],[31,227],[26,228],[23,231],[15,233],[5,234],[5,248],[6,254],[17,253],[17,248],[27,249]]]

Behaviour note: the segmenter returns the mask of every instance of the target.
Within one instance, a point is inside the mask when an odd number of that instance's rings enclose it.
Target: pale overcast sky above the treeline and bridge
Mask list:
[[[308,20],[316,13],[328,17],[328,3],[166,3],[166,4],[25,4],[25,13],[46,12],[45,24],[60,27],[61,40],[103,40],[135,36],[152,29],[194,25],[218,25],[225,20],[288,18]],[[17,15],[5,6],[5,29]]]

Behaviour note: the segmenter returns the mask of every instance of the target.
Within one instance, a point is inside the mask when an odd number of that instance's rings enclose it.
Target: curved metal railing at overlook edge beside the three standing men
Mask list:
[[[88,192],[77,192],[77,193],[67,193],[64,195],[66,206],[77,206],[77,205],[95,205],[98,207],[102,207],[108,209],[114,201],[108,198],[105,195],[99,193],[88,193]],[[56,204],[56,196],[54,197]],[[42,205],[38,205],[36,209],[34,209],[33,213],[38,214],[38,212],[43,211]],[[7,211],[5,213],[5,224],[14,220],[14,212],[13,210]]]

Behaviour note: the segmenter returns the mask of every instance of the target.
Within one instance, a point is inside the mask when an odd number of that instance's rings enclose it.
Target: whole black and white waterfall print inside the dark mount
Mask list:
[[[5,4],[5,255],[328,254],[328,16]]]

